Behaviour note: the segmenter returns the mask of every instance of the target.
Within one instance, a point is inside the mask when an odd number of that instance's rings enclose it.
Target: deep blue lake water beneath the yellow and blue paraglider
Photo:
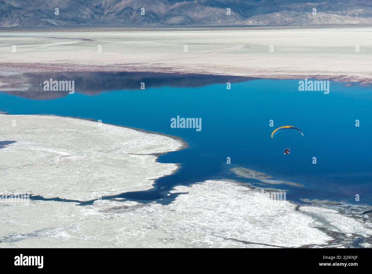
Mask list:
[[[175,197],[166,195],[174,185],[219,178],[255,182],[229,172],[232,167],[244,167],[304,185],[273,185],[288,190],[287,200],[356,203],[355,194],[359,194],[360,203],[372,204],[370,87],[331,82],[330,93],[325,95],[298,91],[298,80],[247,79],[232,83],[231,90],[226,89],[226,82],[214,82],[148,85],[145,90],[126,89],[123,83],[121,89],[103,87],[89,95],[78,93],[76,87],[73,95],[38,100],[31,95],[23,98],[18,93],[0,93],[0,109],[9,114],[91,118],[179,136],[189,143],[187,149],[158,159],[181,163],[178,172],[158,179],[151,191],[120,197],[140,201],[162,198],[167,203]],[[202,130],[171,128],[170,119],[177,115],[202,118]],[[271,119],[274,127],[269,127]],[[355,120],[360,121],[360,127],[355,127]],[[304,136],[291,133],[272,139],[272,131],[282,125],[299,127]],[[0,136],[0,141],[10,140]],[[283,154],[285,147],[291,148],[290,155]],[[230,165],[226,157],[231,157]],[[317,157],[316,165],[312,157]]]

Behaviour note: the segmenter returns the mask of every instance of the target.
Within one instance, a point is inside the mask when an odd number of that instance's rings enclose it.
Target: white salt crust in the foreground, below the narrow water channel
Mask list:
[[[338,236],[330,233],[371,235],[368,223],[317,206],[296,210],[237,182],[206,181],[172,192],[186,194],[165,206],[110,200],[0,206],[0,247],[323,247],[335,246]]]

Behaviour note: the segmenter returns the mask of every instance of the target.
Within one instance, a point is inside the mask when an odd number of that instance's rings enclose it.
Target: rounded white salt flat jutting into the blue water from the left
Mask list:
[[[15,121],[15,126],[13,125]],[[176,164],[155,153],[180,149],[169,136],[76,118],[0,115],[0,189],[23,189],[45,198],[90,200],[146,190]]]

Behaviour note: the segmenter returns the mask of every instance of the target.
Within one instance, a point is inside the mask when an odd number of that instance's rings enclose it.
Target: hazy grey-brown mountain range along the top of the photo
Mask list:
[[[372,0],[0,0],[0,27],[349,24],[372,24]]]

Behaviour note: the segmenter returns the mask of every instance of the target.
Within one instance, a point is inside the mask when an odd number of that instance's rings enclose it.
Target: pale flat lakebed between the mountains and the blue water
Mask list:
[[[7,82],[12,73],[35,71],[151,71],[273,79],[318,78],[372,85],[368,69],[372,63],[370,26],[224,31],[62,30],[41,29],[45,37],[37,41],[33,36],[23,37],[22,33],[24,36],[27,33],[22,29],[17,29],[21,35],[13,38],[0,35],[0,43],[4,45],[0,48],[3,59],[0,74],[3,72],[6,76],[1,77],[0,82]],[[60,38],[70,42],[61,45]],[[15,53],[11,51],[12,45],[17,47]],[[97,45],[102,46],[102,52],[97,52]],[[185,45],[189,47],[186,52],[183,51]],[[57,55],[51,54],[55,51]]]

